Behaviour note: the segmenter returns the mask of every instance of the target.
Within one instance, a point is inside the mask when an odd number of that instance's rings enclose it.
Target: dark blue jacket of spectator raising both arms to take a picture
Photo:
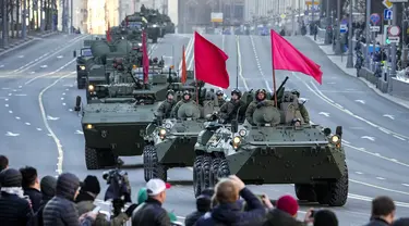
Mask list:
[[[215,206],[212,212],[202,216],[196,222],[196,226],[255,226],[261,224],[266,215],[262,202],[248,188],[242,189],[240,196],[248,203],[250,211],[243,212],[238,202],[219,204]]]

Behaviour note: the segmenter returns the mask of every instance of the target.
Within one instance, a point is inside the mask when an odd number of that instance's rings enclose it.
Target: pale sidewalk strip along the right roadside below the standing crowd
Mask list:
[[[306,36],[310,38],[313,42],[317,43],[320,49],[328,56],[328,59],[337,65],[341,71],[344,71],[345,74],[350,75],[352,77],[357,77],[357,70],[356,68],[347,68],[347,58],[348,55],[335,55],[333,51],[332,45],[323,45],[321,41],[314,41],[313,36]],[[356,62],[356,59],[353,59],[353,63]],[[409,109],[409,101],[402,100],[400,98],[393,97],[387,93],[383,93],[381,90],[378,90],[373,84],[369,83],[366,79],[362,77],[357,77],[360,80],[362,80],[364,84],[366,84],[368,87],[370,87],[372,90],[374,90],[378,96],[388,99],[389,101],[393,101],[404,108]]]

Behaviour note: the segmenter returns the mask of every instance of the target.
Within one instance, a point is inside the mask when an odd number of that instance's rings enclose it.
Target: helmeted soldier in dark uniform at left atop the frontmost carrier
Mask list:
[[[225,123],[230,123],[236,118],[238,111],[244,102],[241,101],[241,91],[239,89],[233,89],[231,91],[231,99],[229,102],[225,102],[220,108],[220,117]]]

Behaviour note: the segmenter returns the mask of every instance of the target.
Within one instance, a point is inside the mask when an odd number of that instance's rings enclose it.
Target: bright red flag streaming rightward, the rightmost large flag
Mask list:
[[[322,84],[321,66],[298,51],[290,42],[272,29],[273,70],[301,72]]]

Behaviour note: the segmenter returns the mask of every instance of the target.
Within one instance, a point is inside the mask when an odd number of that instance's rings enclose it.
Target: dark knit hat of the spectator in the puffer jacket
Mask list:
[[[56,194],[73,200],[80,188],[80,179],[71,173],[62,173],[57,179]]]

